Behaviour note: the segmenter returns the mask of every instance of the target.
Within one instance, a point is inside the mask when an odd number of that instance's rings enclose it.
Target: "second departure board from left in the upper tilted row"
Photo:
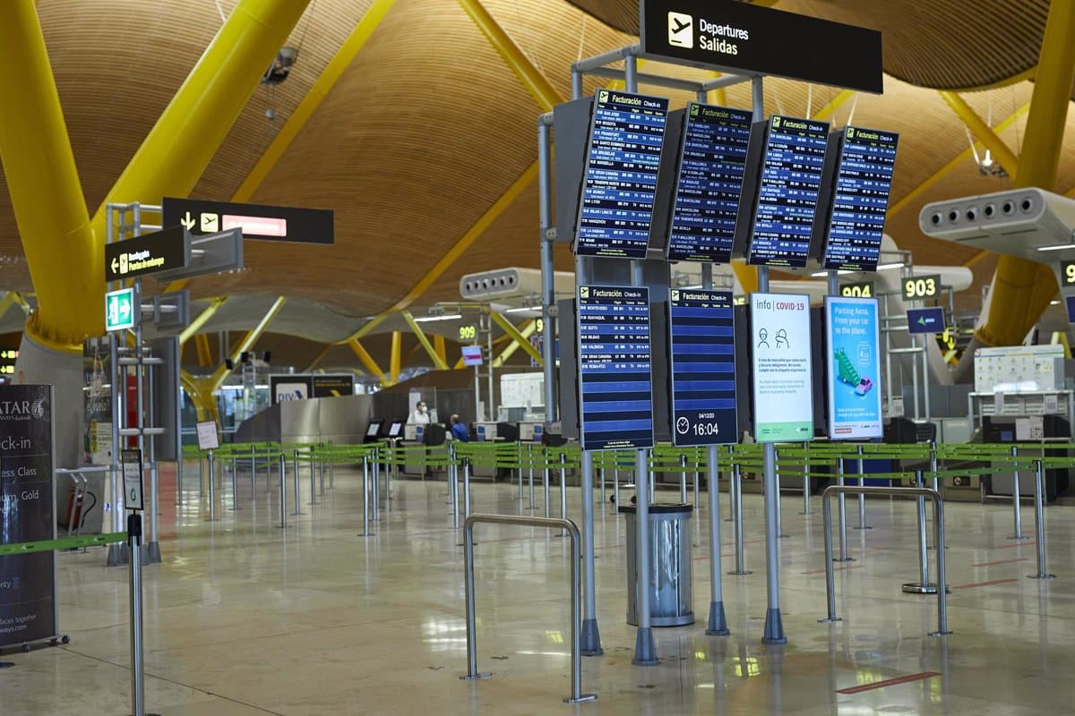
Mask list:
[[[669,230],[669,261],[731,261],[750,121],[749,112],[693,102],[688,105]]]

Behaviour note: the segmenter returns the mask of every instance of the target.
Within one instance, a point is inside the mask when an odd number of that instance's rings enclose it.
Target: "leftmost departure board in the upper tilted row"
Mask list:
[[[669,101],[598,91],[575,253],[644,259]]]

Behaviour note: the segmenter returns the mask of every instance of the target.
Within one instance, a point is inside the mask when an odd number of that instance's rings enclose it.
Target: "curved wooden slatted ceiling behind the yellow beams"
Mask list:
[[[221,4],[230,11],[235,0]],[[264,87],[256,90],[195,195],[231,196],[369,4],[370,0],[318,0],[307,11],[289,41],[302,44],[291,77],[274,94]],[[487,0],[484,4],[564,98],[570,96],[573,60],[632,41],[596,18],[629,29],[628,23],[636,17],[636,5],[628,0],[575,4]],[[856,123],[901,133],[893,194],[899,201],[968,147],[962,122],[937,93],[914,85],[988,84],[1033,64],[1046,4],[1044,0],[929,4],[784,0],[777,6],[883,26],[886,65],[892,73],[886,94],[860,96],[842,105],[832,119],[845,123],[854,107]],[[968,18],[966,9],[972,6],[977,15]],[[1022,11],[1018,16],[1013,14],[1016,8]],[[39,13],[92,211],[220,20],[213,0],[40,0]],[[978,18],[986,18],[980,21],[993,34],[985,35],[984,42],[962,42],[960,38],[978,32]],[[596,85],[588,81],[587,91]],[[1030,83],[1020,82],[964,97],[983,117],[991,114],[995,125],[1029,102],[1031,89]],[[646,87],[642,91],[665,93]],[[772,81],[766,83],[766,112],[803,114],[809,97],[816,113],[836,94],[829,88]],[[673,93],[674,104],[687,99]],[[729,104],[746,106],[748,101],[745,88],[728,91]],[[275,122],[264,117],[269,102],[276,107]],[[398,0],[253,196],[255,202],[333,208],[336,245],[248,242],[247,269],[195,281],[196,297],[286,294],[324,303],[356,320],[384,310],[404,296],[532,165],[539,111],[456,1]],[[1073,121],[1070,117],[1070,129]],[[1023,119],[1002,135],[1008,146],[1018,150],[1024,127]],[[1061,191],[1075,185],[1072,147],[1075,144],[1069,142],[1061,159]],[[918,208],[928,201],[1008,186],[1008,180],[979,176],[973,160],[965,159],[893,214],[889,231],[902,247],[920,252],[921,263],[966,261],[969,252],[918,232]],[[8,201],[8,192],[0,190],[0,288],[28,290],[25,264],[17,263],[22,245]],[[462,274],[536,267],[536,187],[531,185],[421,296],[415,312],[438,299],[458,299]],[[16,263],[2,263],[4,257]],[[571,266],[562,247],[557,262],[560,268]]]

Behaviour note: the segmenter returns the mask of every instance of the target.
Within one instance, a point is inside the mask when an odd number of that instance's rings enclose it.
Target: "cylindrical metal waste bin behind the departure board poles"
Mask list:
[[[639,624],[637,509],[621,505],[627,515],[627,623]],[[649,622],[655,627],[694,623],[691,587],[691,505],[649,506]]]

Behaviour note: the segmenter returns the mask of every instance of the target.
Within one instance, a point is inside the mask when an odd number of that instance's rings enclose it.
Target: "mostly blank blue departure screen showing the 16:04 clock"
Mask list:
[[[669,352],[673,444],[735,442],[732,293],[670,289]]]

